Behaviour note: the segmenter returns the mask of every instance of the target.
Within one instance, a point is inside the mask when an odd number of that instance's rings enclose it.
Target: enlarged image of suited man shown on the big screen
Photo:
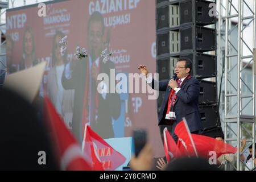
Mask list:
[[[85,123],[102,138],[113,138],[112,118],[120,113],[120,97],[117,93],[99,93],[97,76],[106,73],[110,78],[112,61],[104,63],[101,52],[104,50],[104,18],[94,12],[88,22],[88,58],[73,60],[65,65],[62,76],[64,89],[75,89],[72,132],[81,142]]]

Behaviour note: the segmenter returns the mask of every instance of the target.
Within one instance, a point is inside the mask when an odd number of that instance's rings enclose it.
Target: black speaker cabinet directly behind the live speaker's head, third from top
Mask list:
[[[209,78],[216,76],[216,56],[204,53],[187,53],[180,55],[191,59],[193,68],[191,75],[196,78]]]

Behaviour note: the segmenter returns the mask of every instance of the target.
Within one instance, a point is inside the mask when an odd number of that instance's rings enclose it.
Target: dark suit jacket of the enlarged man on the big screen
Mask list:
[[[82,141],[82,132],[84,131],[84,129],[82,129],[82,108],[84,102],[85,84],[88,84],[89,87],[89,81],[86,83],[86,75],[88,75],[86,74],[88,65],[86,64],[87,61],[88,59],[82,59],[75,63],[72,77],[70,79],[65,77],[65,70],[62,76],[63,88],[75,89],[72,132],[80,142]],[[103,63],[102,59],[100,61],[100,73],[106,73],[110,79],[110,69],[114,69],[114,64],[111,61]],[[96,92],[96,94],[98,94],[97,84],[95,82],[92,82],[92,87],[92,92]],[[89,99],[88,94],[86,99]],[[86,103],[88,102],[86,101]],[[98,103],[98,122],[94,123],[95,125],[91,125],[90,127],[102,138],[113,138],[114,131],[112,126],[112,118],[117,119],[119,117],[121,108],[119,94],[110,93],[109,90],[109,94],[106,94],[106,100],[104,100],[104,98],[98,94]],[[89,106],[87,110],[89,110]]]

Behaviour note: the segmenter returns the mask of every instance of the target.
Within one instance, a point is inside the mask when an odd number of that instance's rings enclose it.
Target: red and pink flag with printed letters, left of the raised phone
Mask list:
[[[86,156],[91,156],[93,170],[113,171],[126,160],[125,156],[114,150],[114,148],[96,134],[88,124],[85,125],[82,149]]]

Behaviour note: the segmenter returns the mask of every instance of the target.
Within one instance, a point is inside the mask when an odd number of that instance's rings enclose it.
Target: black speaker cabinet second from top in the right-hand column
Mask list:
[[[207,27],[187,27],[180,29],[180,52],[206,52],[216,49],[216,30]]]

